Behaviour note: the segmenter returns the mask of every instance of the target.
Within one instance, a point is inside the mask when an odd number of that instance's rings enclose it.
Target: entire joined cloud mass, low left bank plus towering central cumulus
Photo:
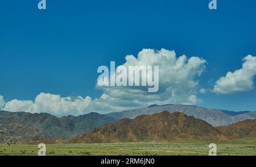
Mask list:
[[[176,56],[175,51],[143,49],[136,58],[125,57],[123,66],[159,66],[159,90],[148,93],[143,86],[105,86],[100,98],[61,97],[60,95],[40,93],[34,101],[13,101],[5,104],[7,111],[49,112],[54,115],[79,115],[91,111],[101,113],[130,110],[157,103],[159,105],[196,105],[199,77],[207,61],[200,57]]]

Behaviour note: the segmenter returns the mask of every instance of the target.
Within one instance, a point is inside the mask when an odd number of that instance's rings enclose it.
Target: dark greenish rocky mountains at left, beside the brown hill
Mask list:
[[[69,140],[117,119],[91,112],[80,116],[56,116],[40,113],[0,111],[0,142]]]

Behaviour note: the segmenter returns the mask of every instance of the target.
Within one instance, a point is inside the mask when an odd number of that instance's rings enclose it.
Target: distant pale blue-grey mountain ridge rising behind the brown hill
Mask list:
[[[226,110],[218,110],[218,109],[209,109],[204,107],[197,106],[188,106],[188,105],[151,105],[147,108],[138,108],[136,110],[129,110],[123,112],[110,112],[106,115],[111,116],[116,119],[123,118],[136,118],[139,115],[143,114],[155,114],[162,111],[169,112],[183,112],[186,115],[194,116],[195,118],[199,118],[205,120],[212,126],[226,126],[229,124],[237,123],[246,119],[256,119],[256,112],[250,111],[226,111]]]

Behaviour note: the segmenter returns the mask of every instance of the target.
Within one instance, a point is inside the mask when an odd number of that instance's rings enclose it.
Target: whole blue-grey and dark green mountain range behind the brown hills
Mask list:
[[[195,119],[204,120],[210,126],[221,126],[222,128],[218,131],[223,134],[232,132],[230,130],[232,127],[228,128],[228,130],[225,128],[230,124],[256,119],[256,112],[234,112],[188,105],[151,105],[130,111],[110,112],[108,114],[90,112],[85,115],[68,115],[61,118],[47,113],[31,114],[29,112],[0,111],[0,142],[3,143],[10,140],[13,142],[26,141],[28,143],[38,143],[39,141],[45,141],[46,143],[63,142],[71,140],[77,135],[92,132],[95,128],[108,123],[115,123],[121,119],[127,121],[141,115],[152,115],[162,111],[171,113],[176,111],[183,112],[185,115],[193,116]],[[244,127],[246,127],[246,124]],[[191,137],[191,139],[194,138]]]

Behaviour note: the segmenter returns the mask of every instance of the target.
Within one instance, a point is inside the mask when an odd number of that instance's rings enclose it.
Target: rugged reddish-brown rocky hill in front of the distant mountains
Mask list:
[[[226,137],[201,119],[182,112],[168,111],[141,115],[108,123],[90,133],[78,135],[70,143],[112,143],[171,140],[226,140]]]

